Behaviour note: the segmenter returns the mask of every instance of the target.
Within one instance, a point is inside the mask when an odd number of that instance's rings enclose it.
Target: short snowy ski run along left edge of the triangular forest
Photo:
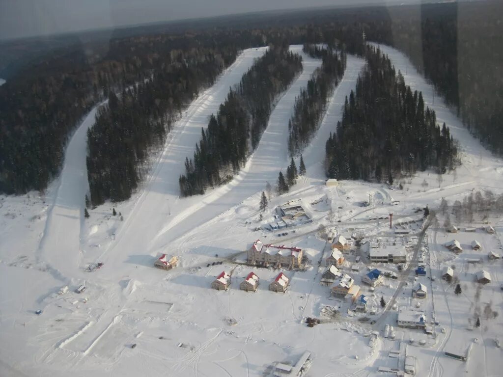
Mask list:
[[[346,97],[349,97],[351,90],[356,88],[358,74],[364,65],[365,60],[353,55],[347,55],[344,76],[332,94],[325,116],[323,117],[316,135],[311,140],[311,144],[304,149],[302,154],[307,175],[311,178],[326,178],[323,165],[325,161],[326,141],[330,136],[330,132],[333,133],[336,131],[337,122],[342,119],[344,101]]]

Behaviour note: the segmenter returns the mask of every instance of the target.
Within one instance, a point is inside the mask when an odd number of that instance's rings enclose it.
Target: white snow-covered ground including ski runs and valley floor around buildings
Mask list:
[[[319,60],[303,55],[303,72],[279,100],[257,151],[242,171],[204,196],[180,199],[178,177],[183,161],[192,156],[201,127],[206,127],[209,115],[224,101],[229,86],[237,83],[253,59],[265,51],[249,49],[215,85],[201,93],[176,124],[135,196],[116,206],[100,206],[84,220],[88,187],[85,136],[95,109],[73,135],[62,174],[47,193],[0,197],[0,375],[263,376],[271,372],[275,362],[295,363],[308,350],[313,360],[308,375],[367,376],[376,375],[378,366],[398,367],[403,363],[404,343],[411,337],[415,342],[406,347],[406,352],[417,357],[417,375],[501,375],[501,351],[494,342],[495,337],[503,340],[501,321],[499,317],[486,320],[482,313],[487,303],[493,311],[502,309],[501,261],[487,260],[488,250],[502,253],[497,238],[502,230],[501,218],[490,218],[496,235],[480,230],[456,235],[447,235],[440,228],[428,231],[427,265],[435,281],[428,277],[415,281],[410,276],[409,285],[427,285],[429,295],[420,306],[429,319],[435,310],[440,323],[435,326],[436,338],[418,330],[396,329],[396,340],[380,336],[376,345],[369,347],[372,331],[382,335],[385,324],[396,326],[396,310],[388,308],[381,318],[383,309],[378,303],[381,296],[391,298],[398,282],[386,278],[375,292],[361,285],[362,293],[378,307],[374,317],[380,320],[374,326],[359,321],[361,315],[346,315],[349,305],[333,300],[329,288],[319,284],[329,250],[329,243],[320,237],[324,232],[321,229],[337,230],[348,237],[363,231],[368,237],[385,238],[390,212],[395,222],[417,219],[422,213],[416,213],[416,208],[435,208],[442,197],[452,204],[472,190],[503,191],[503,161],[469,135],[441,98],[435,97],[432,105],[431,86],[401,53],[382,48],[404,74],[406,83],[423,91],[438,121],[446,122],[459,140],[462,165],[455,174],[439,180],[433,172],[418,173],[401,181],[403,190],[361,181],[325,186],[324,144],[364,64],[348,56],[347,70],[320,129],[303,152],[306,176],[299,178],[290,193],[273,196],[261,220],[260,194],[266,182],[274,184],[278,171],[289,163],[287,127],[295,97],[320,65]],[[301,46],[291,49],[302,53]],[[373,205],[362,207],[369,194]],[[312,224],[295,229],[295,233],[292,229],[283,231],[287,235],[262,228],[273,220],[275,206],[297,199],[312,215]],[[393,200],[400,203],[392,206]],[[112,215],[112,208],[117,216]],[[259,238],[301,247],[309,259],[310,267],[305,271],[284,271],[291,278],[285,294],[268,291],[278,270],[235,262],[244,259],[247,245]],[[442,246],[452,238],[465,248],[458,256]],[[474,238],[482,244],[481,251],[468,250]],[[410,236],[411,246],[414,240]],[[178,267],[170,271],[153,268],[160,252],[178,255]],[[359,283],[367,270],[362,261],[360,271],[351,272],[355,257],[348,254],[343,269]],[[467,263],[475,257],[481,257],[482,263]],[[86,270],[96,262],[103,262],[103,267]],[[446,265],[455,265],[462,295],[454,295],[454,287],[440,278]],[[394,266],[380,268],[395,270]],[[481,268],[489,271],[493,280],[479,289],[475,298],[478,284],[473,282],[473,272]],[[232,271],[231,287],[225,292],[212,290],[211,282],[222,270]],[[259,290],[240,291],[239,282],[252,270],[260,277]],[[87,290],[74,293],[80,284]],[[69,292],[59,295],[63,286],[68,286]],[[404,286],[399,292],[396,302],[400,306],[415,306],[417,300],[410,297],[410,288]],[[342,315],[307,327],[304,319],[320,318],[325,306],[338,307]],[[477,308],[482,326],[467,330],[467,318],[473,318]],[[42,314],[37,316],[39,309]],[[445,334],[441,328],[446,328]],[[473,342],[475,338],[477,343]],[[418,344],[423,339],[424,347]],[[401,345],[399,340],[403,340]],[[443,354],[464,351],[469,343],[473,346],[466,363]],[[401,358],[388,357],[391,349],[401,349]]]

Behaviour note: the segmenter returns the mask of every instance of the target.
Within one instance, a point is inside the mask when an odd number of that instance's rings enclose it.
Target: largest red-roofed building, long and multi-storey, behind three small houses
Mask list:
[[[249,265],[262,267],[300,268],[302,266],[302,249],[263,244],[261,240],[257,240],[248,248],[246,262]]]

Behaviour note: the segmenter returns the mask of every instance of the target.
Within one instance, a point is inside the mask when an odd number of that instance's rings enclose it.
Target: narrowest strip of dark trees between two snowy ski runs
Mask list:
[[[317,68],[307,87],[300,89],[295,100],[294,114],[288,122],[288,151],[295,156],[309,145],[319,128],[326,111],[328,99],[346,69],[346,54],[339,54],[330,47],[305,44],[304,52],[311,57],[321,58],[321,67]]]

